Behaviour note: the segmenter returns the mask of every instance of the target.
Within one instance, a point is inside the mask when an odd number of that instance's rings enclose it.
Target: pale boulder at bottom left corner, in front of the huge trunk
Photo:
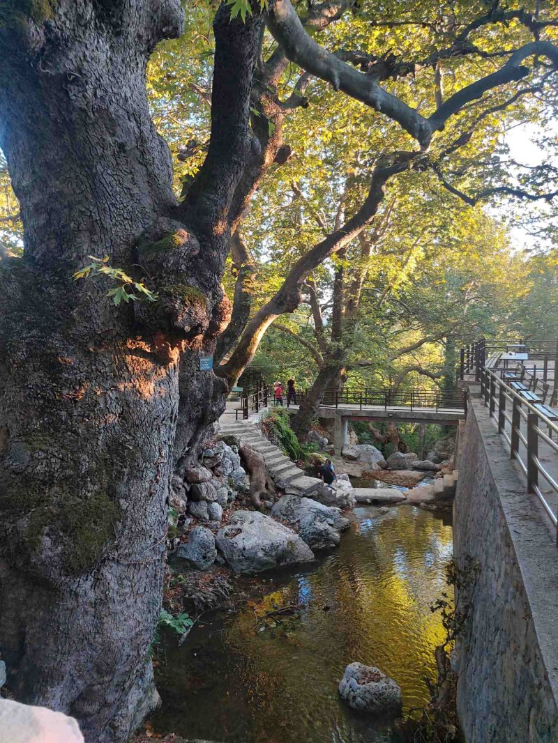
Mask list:
[[[0,740],[10,743],[83,743],[77,720],[46,707],[0,699]]]

